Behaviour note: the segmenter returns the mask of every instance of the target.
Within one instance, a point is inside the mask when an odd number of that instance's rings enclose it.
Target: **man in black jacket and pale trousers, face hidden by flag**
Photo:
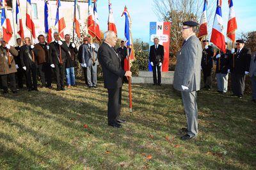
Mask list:
[[[227,49],[226,42],[226,53],[222,50],[218,50],[216,52],[216,56],[214,56],[214,61],[216,61],[216,78],[217,78],[217,86],[218,92],[225,94],[228,91],[228,65],[231,56],[231,51]]]

